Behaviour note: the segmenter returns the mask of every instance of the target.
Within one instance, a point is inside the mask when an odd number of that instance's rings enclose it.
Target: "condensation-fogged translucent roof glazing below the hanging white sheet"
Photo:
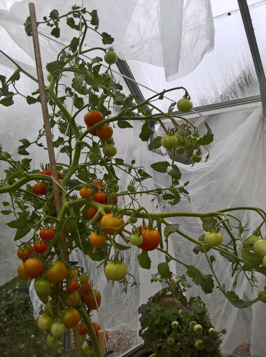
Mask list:
[[[265,68],[266,3],[262,2],[256,7],[251,7],[250,14]],[[215,19],[214,24],[214,50],[204,56],[192,73],[178,81],[167,83],[162,68],[128,61],[136,81],[157,92],[161,92],[164,88],[183,86],[188,90],[194,107],[259,95],[256,72],[240,12]],[[190,58],[188,57],[187,60],[190,61]],[[141,90],[144,98],[154,94],[146,88]],[[183,91],[176,90],[168,92],[166,96],[177,101],[183,95]],[[171,103],[164,98],[164,100],[157,100],[155,105],[162,111],[167,111]]]

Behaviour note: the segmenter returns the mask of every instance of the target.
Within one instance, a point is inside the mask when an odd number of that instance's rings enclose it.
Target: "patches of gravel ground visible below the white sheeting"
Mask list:
[[[108,347],[113,350],[110,357],[120,357],[123,353],[137,345],[137,332],[131,330],[108,331]],[[232,354],[238,357],[250,357],[250,341],[238,346],[232,351]]]

